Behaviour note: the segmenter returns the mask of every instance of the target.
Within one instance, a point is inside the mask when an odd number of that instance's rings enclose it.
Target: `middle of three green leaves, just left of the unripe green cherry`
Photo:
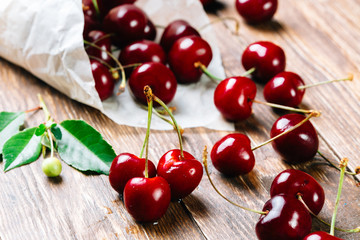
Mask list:
[[[25,129],[12,136],[3,148],[4,171],[34,162],[41,153],[41,137],[35,135],[37,127]]]

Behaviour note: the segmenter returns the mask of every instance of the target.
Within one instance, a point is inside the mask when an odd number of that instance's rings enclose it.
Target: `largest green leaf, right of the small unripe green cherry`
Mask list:
[[[61,131],[54,135],[64,162],[80,171],[109,174],[116,154],[98,131],[81,120],[66,120],[54,128]]]

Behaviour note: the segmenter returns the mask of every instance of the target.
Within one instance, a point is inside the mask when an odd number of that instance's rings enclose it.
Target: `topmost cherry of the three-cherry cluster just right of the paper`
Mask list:
[[[254,42],[247,46],[241,61],[246,70],[255,67],[252,77],[262,83],[283,72],[286,65],[284,50],[268,41]]]

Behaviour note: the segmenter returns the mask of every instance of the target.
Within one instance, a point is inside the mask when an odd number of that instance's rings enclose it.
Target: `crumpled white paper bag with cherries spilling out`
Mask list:
[[[138,0],[155,23],[166,26],[184,19],[195,28],[209,23],[199,0]],[[147,111],[132,99],[129,89],[101,102],[94,86],[89,58],[83,46],[81,0],[2,0],[0,5],[0,56],[19,65],[70,98],[99,109],[118,124],[146,127]],[[158,29],[158,38],[161,36]],[[225,77],[211,26],[200,32],[211,45],[209,71]],[[183,128],[233,130],[213,103],[215,84],[206,76],[191,85],[178,85],[175,117]],[[115,89],[117,91],[117,89]],[[153,129],[172,126],[153,116]]]

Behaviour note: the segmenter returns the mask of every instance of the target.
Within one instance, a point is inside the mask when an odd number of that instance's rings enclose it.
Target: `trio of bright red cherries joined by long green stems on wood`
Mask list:
[[[148,160],[147,150],[145,158],[122,153],[111,164],[109,181],[114,190],[123,194],[125,207],[136,221],[153,222],[165,214],[170,200],[182,199],[194,191],[202,179],[203,168],[194,156],[183,151],[180,129],[171,111],[151,92],[149,86],[144,89],[149,111],[144,146],[147,148],[149,142],[154,99],[171,116],[180,148],[166,152],[160,158],[157,168]]]

